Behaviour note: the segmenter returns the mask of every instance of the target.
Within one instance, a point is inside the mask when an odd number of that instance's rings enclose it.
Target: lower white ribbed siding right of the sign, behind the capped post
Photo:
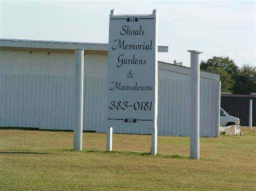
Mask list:
[[[190,135],[190,81],[160,80],[158,83],[159,135]],[[216,136],[218,81],[200,79],[200,136]]]

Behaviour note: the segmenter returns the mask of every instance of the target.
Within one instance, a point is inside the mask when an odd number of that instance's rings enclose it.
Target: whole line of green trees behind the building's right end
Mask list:
[[[220,74],[221,92],[256,93],[256,66],[245,63],[239,68],[228,56],[213,56],[201,61],[200,69]]]

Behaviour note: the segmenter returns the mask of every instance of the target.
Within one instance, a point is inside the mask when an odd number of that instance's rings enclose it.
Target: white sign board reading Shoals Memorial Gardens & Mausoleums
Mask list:
[[[156,128],[157,14],[110,15],[107,126]]]

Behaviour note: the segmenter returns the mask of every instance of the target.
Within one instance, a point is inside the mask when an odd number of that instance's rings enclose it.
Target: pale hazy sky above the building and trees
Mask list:
[[[151,14],[158,10],[158,60],[190,66],[229,56],[241,67],[255,63],[255,1],[6,1],[0,0],[0,38],[108,43],[109,14]]]

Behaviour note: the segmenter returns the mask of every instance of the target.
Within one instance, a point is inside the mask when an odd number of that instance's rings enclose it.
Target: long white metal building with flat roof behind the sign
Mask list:
[[[107,48],[0,39],[0,127],[72,130],[74,49],[84,49],[84,130],[105,132]],[[158,62],[158,69],[158,135],[189,136],[190,68]],[[200,85],[200,136],[218,137],[219,75],[201,71]],[[150,134],[122,127],[113,132]]]

